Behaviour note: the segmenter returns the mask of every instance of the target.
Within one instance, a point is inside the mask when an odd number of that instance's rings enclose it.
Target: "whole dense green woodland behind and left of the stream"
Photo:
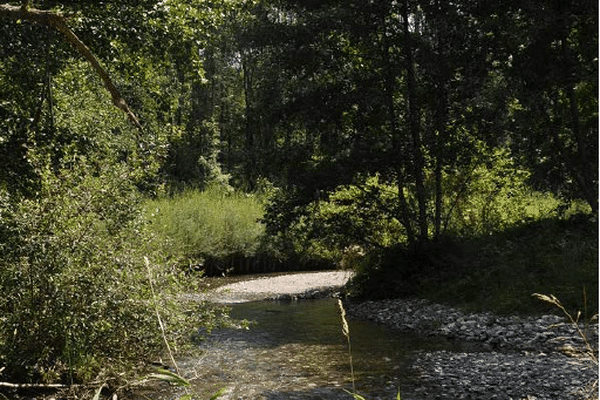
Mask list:
[[[414,294],[584,232],[597,295],[595,1],[37,0],[0,38],[0,380],[123,386],[228,323],[173,301],[203,269]]]

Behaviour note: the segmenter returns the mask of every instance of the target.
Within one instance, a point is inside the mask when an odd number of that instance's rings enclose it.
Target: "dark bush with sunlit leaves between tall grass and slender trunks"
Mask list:
[[[351,259],[360,258],[360,253],[402,241],[403,228],[395,217],[397,193],[395,186],[379,176],[366,177],[360,184],[340,186],[305,207],[286,209],[289,205],[281,202],[281,197],[272,198],[265,219],[269,228],[276,229],[274,222],[293,218],[287,228],[279,228],[277,238],[304,262],[328,260],[353,267]],[[278,209],[288,216],[273,215]],[[273,217],[278,219],[273,221]]]

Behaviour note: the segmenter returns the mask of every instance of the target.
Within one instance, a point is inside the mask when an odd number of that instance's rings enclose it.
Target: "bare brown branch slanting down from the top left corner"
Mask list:
[[[121,97],[121,94],[110,79],[108,72],[102,67],[102,65],[100,65],[96,57],[94,57],[85,43],[83,43],[71,30],[71,28],[67,26],[66,18],[63,14],[54,11],[38,10],[25,5],[23,7],[17,7],[10,4],[0,4],[0,16],[15,20],[27,20],[40,25],[50,26],[62,33],[65,39],[67,39],[67,41],[71,43],[81,55],[83,55],[83,57],[90,63],[94,71],[96,71],[96,73],[100,76],[102,82],[104,82],[104,86],[112,97],[113,104],[127,115],[129,120],[140,132],[143,132],[142,125],[138,121],[135,114],[133,114],[123,97]]]

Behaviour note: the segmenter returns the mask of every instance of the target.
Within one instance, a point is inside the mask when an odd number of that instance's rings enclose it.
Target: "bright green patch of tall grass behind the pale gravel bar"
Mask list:
[[[165,253],[180,262],[252,256],[264,235],[259,196],[217,185],[148,201],[144,208],[154,232],[168,243]]]

